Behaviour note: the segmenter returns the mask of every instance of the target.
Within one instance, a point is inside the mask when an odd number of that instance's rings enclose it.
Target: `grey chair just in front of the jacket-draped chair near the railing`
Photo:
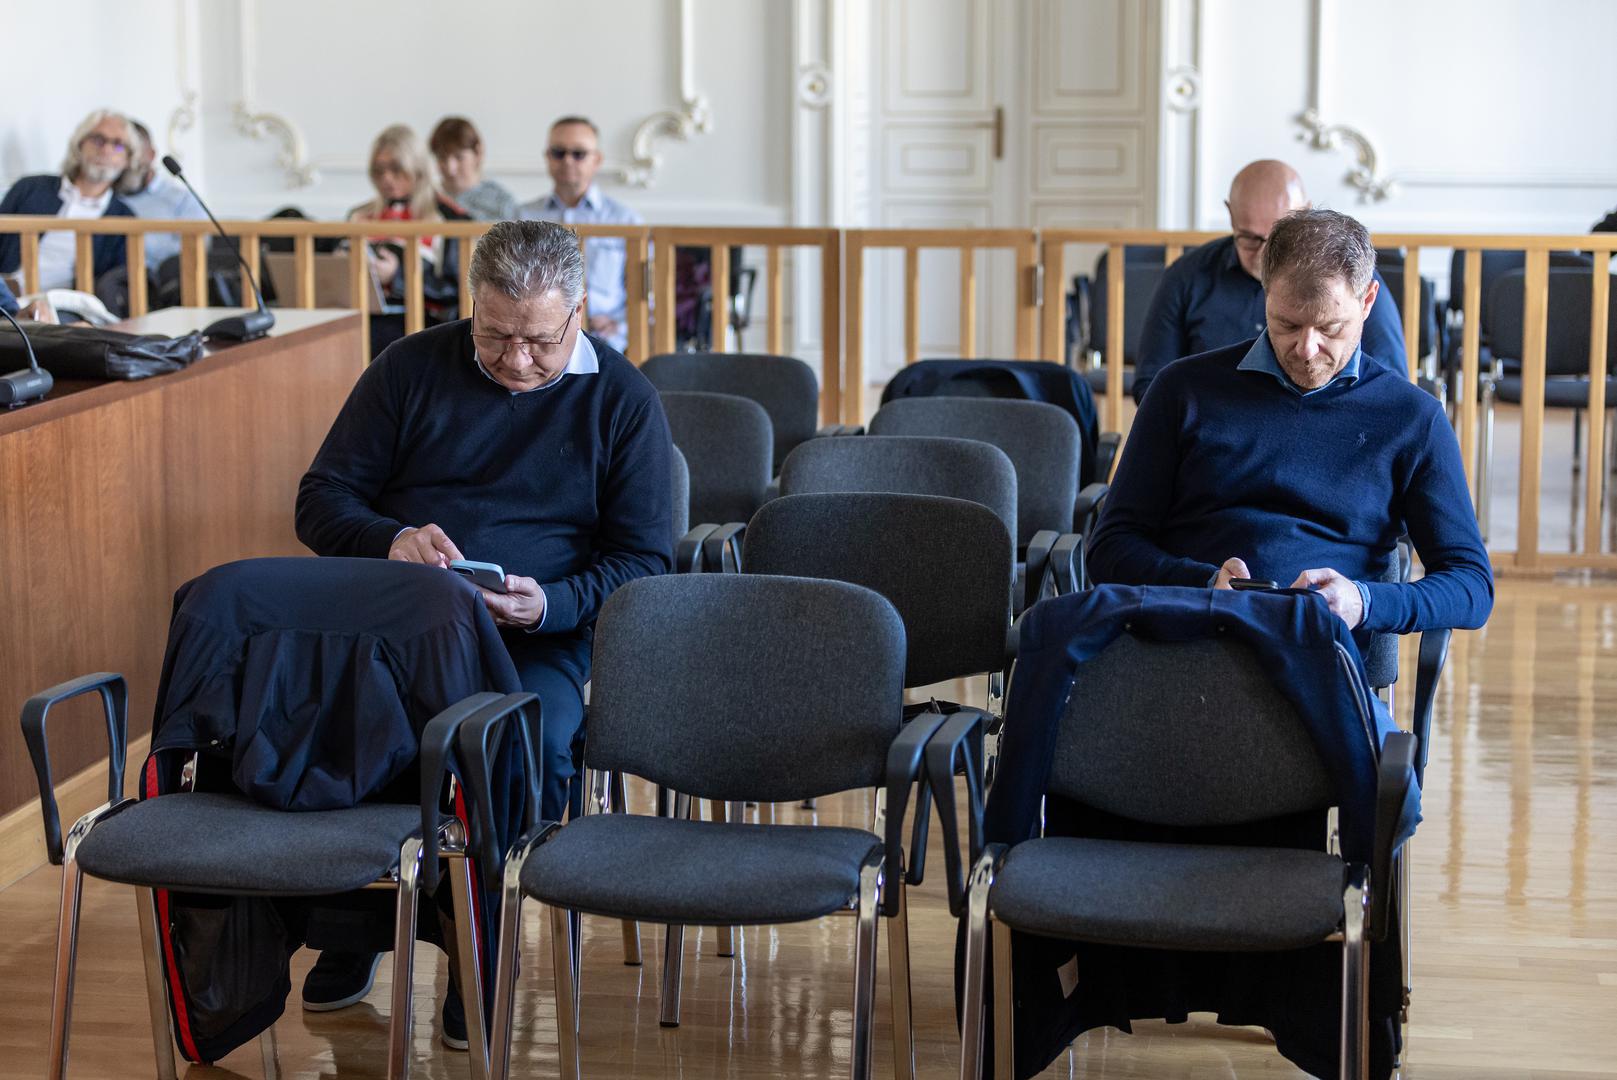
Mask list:
[[[975,438],[1003,449],[1015,467],[1017,550],[1038,548],[1040,563],[1043,545],[1059,551],[1053,563],[1059,593],[1087,584],[1083,535],[1093,529],[1108,485],[1079,490],[1083,440],[1066,409],[1004,398],[902,398],[876,411],[870,433]]]

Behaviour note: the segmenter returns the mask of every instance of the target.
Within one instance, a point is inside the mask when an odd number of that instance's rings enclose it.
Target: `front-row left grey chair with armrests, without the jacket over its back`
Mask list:
[[[84,694],[97,694],[102,700],[108,742],[107,802],[79,818],[63,839],[50,779],[47,719],[55,705]],[[289,813],[236,794],[176,792],[144,800],[125,797],[128,689],[123,676],[89,674],[31,697],[23,707],[23,736],[39,778],[45,850],[52,865],[61,867],[49,1075],[53,1080],[66,1075],[79,896],[84,876],[89,875],[136,886],[158,1080],[176,1077],[175,1031],[158,946],[158,891],[310,897],[367,888],[396,889],[388,1077],[407,1077],[417,899],[424,875],[430,878],[425,888],[430,889],[437,881],[437,863],[430,870],[424,867],[424,850],[429,859],[433,849],[459,859],[459,871],[450,875],[458,912],[458,954],[462,960],[459,978],[462,986],[480,985],[469,917],[472,880],[471,863],[464,857],[467,847],[459,826],[440,815],[437,797],[443,791],[445,750],[458,728],[498,700],[498,694],[474,694],[429,721],[422,731],[422,791],[432,794],[422,805],[367,804],[348,810]],[[429,829],[435,834],[432,842],[424,839]],[[474,1046],[472,1075],[483,1077],[485,1040],[475,993],[467,994],[467,1004]],[[265,1075],[273,1077],[273,1027],[264,1031],[259,1044]]]

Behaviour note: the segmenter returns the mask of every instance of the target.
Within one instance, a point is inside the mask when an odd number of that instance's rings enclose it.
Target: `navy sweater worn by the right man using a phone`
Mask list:
[[[1478,627],[1494,579],[1442,406],[1381,364],[1308,396],[1235,365],[1252,341],[1163,369],[1088,548],[1096,582],[1206,587],[1231,556],[1290,585],[1366,582],[1366,632]],[[1379,579],[1408,532],[1425,577]]]

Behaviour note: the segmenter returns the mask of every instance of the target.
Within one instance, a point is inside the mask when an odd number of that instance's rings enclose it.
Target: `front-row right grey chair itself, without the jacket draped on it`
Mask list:
[[[1352,671],[1352,664],[1345,664]],[[1357,677],[1357,676],[1353,676]],[[1334,786],[1307,728],[1252,650],[1227,639],[1121,635],[1079,666],[1046,792],[1164,826],[1229,826],[1324,810]],[[1216,686],[1219,692],[1208,694]],[[1368,700],[1362,689],[1360,700]],[[1234,703],[1234,708],[1232,708]],[[1368,716],[1365,723],[1371,723]],[[928,776],[952,774],[951,726]],[[970,745],[970,744],[960,744]],[[944,747],[949,747],[948,750]],[[972,850],[959,876],[954,784],[933,783],[949,834],[951,907],[965,913],[962,1077],[1012,1077],[1011,931],[1096,944],[1287,951],[1342,941],[1342,1077],[1368,1067],[1368,946],[1386,931],[1392,821],[1413,783],[1413,737],[1387,737],[1373,865],[1324,850],[1035,837]],[[973,837],[982,807],[972,797]],[[1386,821],[1383,821],[1386,816]],[[973,847],[980,841],[973,839]],[[1384,884],[1386,883],[1386,884]],[[983,1072],[983,999],[993,928],[994,1065]]]

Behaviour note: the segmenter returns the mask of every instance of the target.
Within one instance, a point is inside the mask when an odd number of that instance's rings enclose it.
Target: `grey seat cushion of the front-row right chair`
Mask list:
[[[990,905],[1045,938],[1300,949],[1340,928],[1342,884],[1342,860],[1324,852],[1043,837],[1011,849]]]

